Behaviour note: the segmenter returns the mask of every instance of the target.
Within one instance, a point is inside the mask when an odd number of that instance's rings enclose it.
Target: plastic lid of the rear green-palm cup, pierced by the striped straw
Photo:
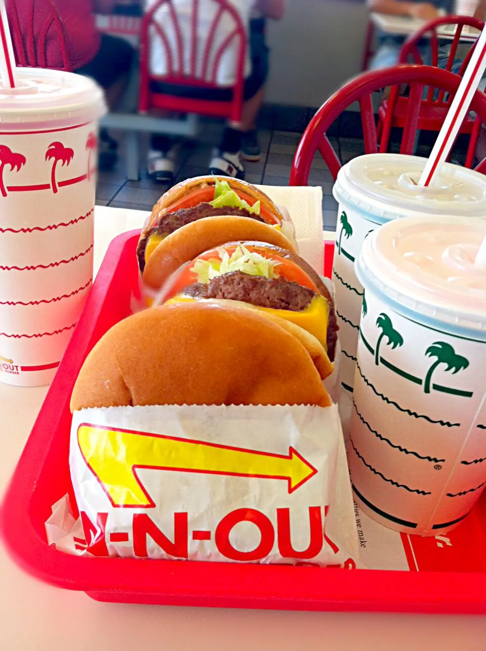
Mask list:
[[[486,176],[444,163],[433,187],[417,185],[425,158],[366,154],[344,165],[334,197],[375,215],[384,223],[416,214],[486,215]]]

